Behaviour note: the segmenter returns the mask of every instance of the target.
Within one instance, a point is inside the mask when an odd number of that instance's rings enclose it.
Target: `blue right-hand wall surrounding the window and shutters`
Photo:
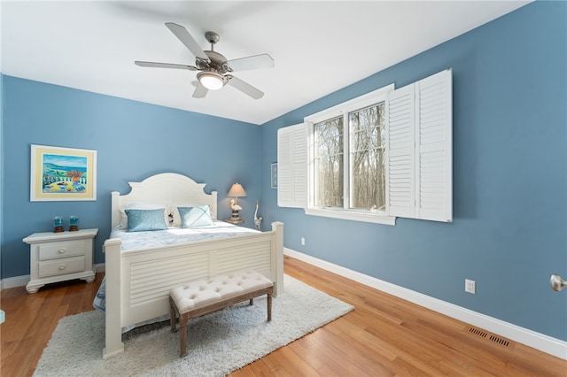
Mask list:
[[[567,4],[536,2],[262,126],[264,220],[284,245],[567,340]],[[276,131],[394,82],[453,68],[454,222],[395,227],[277,208]],[[300,244],[306,238],[306,245]],[[465,278],[477,294],[464,292]]]

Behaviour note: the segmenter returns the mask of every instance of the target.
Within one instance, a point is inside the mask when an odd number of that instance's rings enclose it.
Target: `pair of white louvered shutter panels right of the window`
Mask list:
[[[386,99],[386,212],[453,220],[451,70],[391,92]]]

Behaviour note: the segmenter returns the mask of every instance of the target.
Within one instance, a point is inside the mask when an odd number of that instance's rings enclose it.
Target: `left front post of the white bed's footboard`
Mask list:
[[[120,352],[124,352],[122,342],[121,326],[121,289],[120,289],[120,239],[112,238],[105,241],[103,250],[105,252],[105,349],[103,358],[110,358]]]

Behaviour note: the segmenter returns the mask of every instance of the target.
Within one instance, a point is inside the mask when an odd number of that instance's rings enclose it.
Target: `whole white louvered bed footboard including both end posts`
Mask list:
[[[105,241],[106,329],[103,358],[124,350],[121,328],[169,314],[169,290],[188,281],[251,269],[283,293],[283,223],[251,235],[120,251]]]

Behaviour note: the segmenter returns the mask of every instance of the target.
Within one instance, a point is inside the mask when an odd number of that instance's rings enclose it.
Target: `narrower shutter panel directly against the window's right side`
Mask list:
[[[413,84],[386,96],[386,211],[391,216],[414,217]]]

